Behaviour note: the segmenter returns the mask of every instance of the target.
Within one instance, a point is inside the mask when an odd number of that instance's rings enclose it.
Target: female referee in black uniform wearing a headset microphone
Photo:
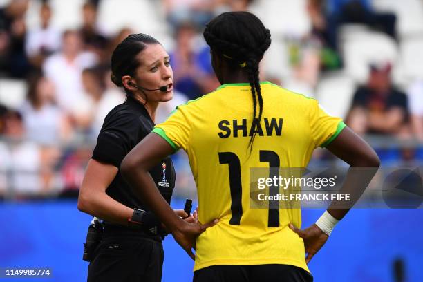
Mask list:
[[[102,240],[88,266],[88,281],[160,281],[162,225],[120,173],[126,153],[154,126],[158,103],[172,98],[169,55],[153,37],[129,35],[111,57],[111,80],[126,101],[106,116],[88,162],[78,209],[104,220]],[[160,197],[170,203],[175,171],[170,158],[150,167]],[[177,216],[188,216],[176,211]],[[194,220],[190,217],[186,220]]]

